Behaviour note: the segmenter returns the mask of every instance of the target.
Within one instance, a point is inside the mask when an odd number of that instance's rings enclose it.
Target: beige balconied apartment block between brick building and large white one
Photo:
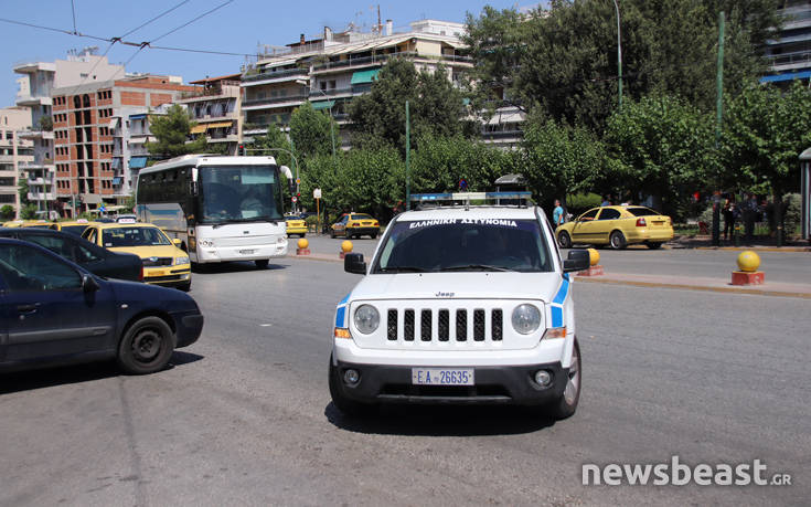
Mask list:
[[[194,92],[184,92],[178,104],[185,106],[196,126],[191,134],[205,135],[209,145],[223,145],[227,155],[236,155],[242,138],[242,74],[192,81]]]

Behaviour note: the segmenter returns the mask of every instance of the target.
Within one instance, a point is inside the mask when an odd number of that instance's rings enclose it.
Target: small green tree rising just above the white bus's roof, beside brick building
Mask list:
[[[205,152],[205,135],[199,135],[193,141],[186,142],[191,128],[195,125],[179,104],[172,105],[166,115],[149,115],[149,129],[158,140],[147,142],[147,149],[151,155],[162,158]]]

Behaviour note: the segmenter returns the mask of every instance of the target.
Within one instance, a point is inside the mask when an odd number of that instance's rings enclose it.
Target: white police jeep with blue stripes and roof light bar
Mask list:
[[[588,252],[562,261],[529,198],[414,196],[453,205],[397,215],[369,267],[346,254],[345,271],[366,276],[335,310],[329,384],[338,409],[472,402],[574,414],[581,372],[567,272],[587,268]],[[505,199],[519,204],[469,204]]]

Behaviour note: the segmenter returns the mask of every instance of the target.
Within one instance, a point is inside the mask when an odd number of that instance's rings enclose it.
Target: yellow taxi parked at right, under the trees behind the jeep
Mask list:
[[[574,243],[609,245],[621,250],[643,243],[658,249],[673,239],[670,216],[641,205],[593,208],[555,230],[557,244],[568,249]]]

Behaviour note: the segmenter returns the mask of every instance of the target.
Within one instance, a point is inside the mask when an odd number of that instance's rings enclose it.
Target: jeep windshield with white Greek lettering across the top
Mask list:
[[[372,273],[552,272],[535,220],[404,221],[383,239]]]

